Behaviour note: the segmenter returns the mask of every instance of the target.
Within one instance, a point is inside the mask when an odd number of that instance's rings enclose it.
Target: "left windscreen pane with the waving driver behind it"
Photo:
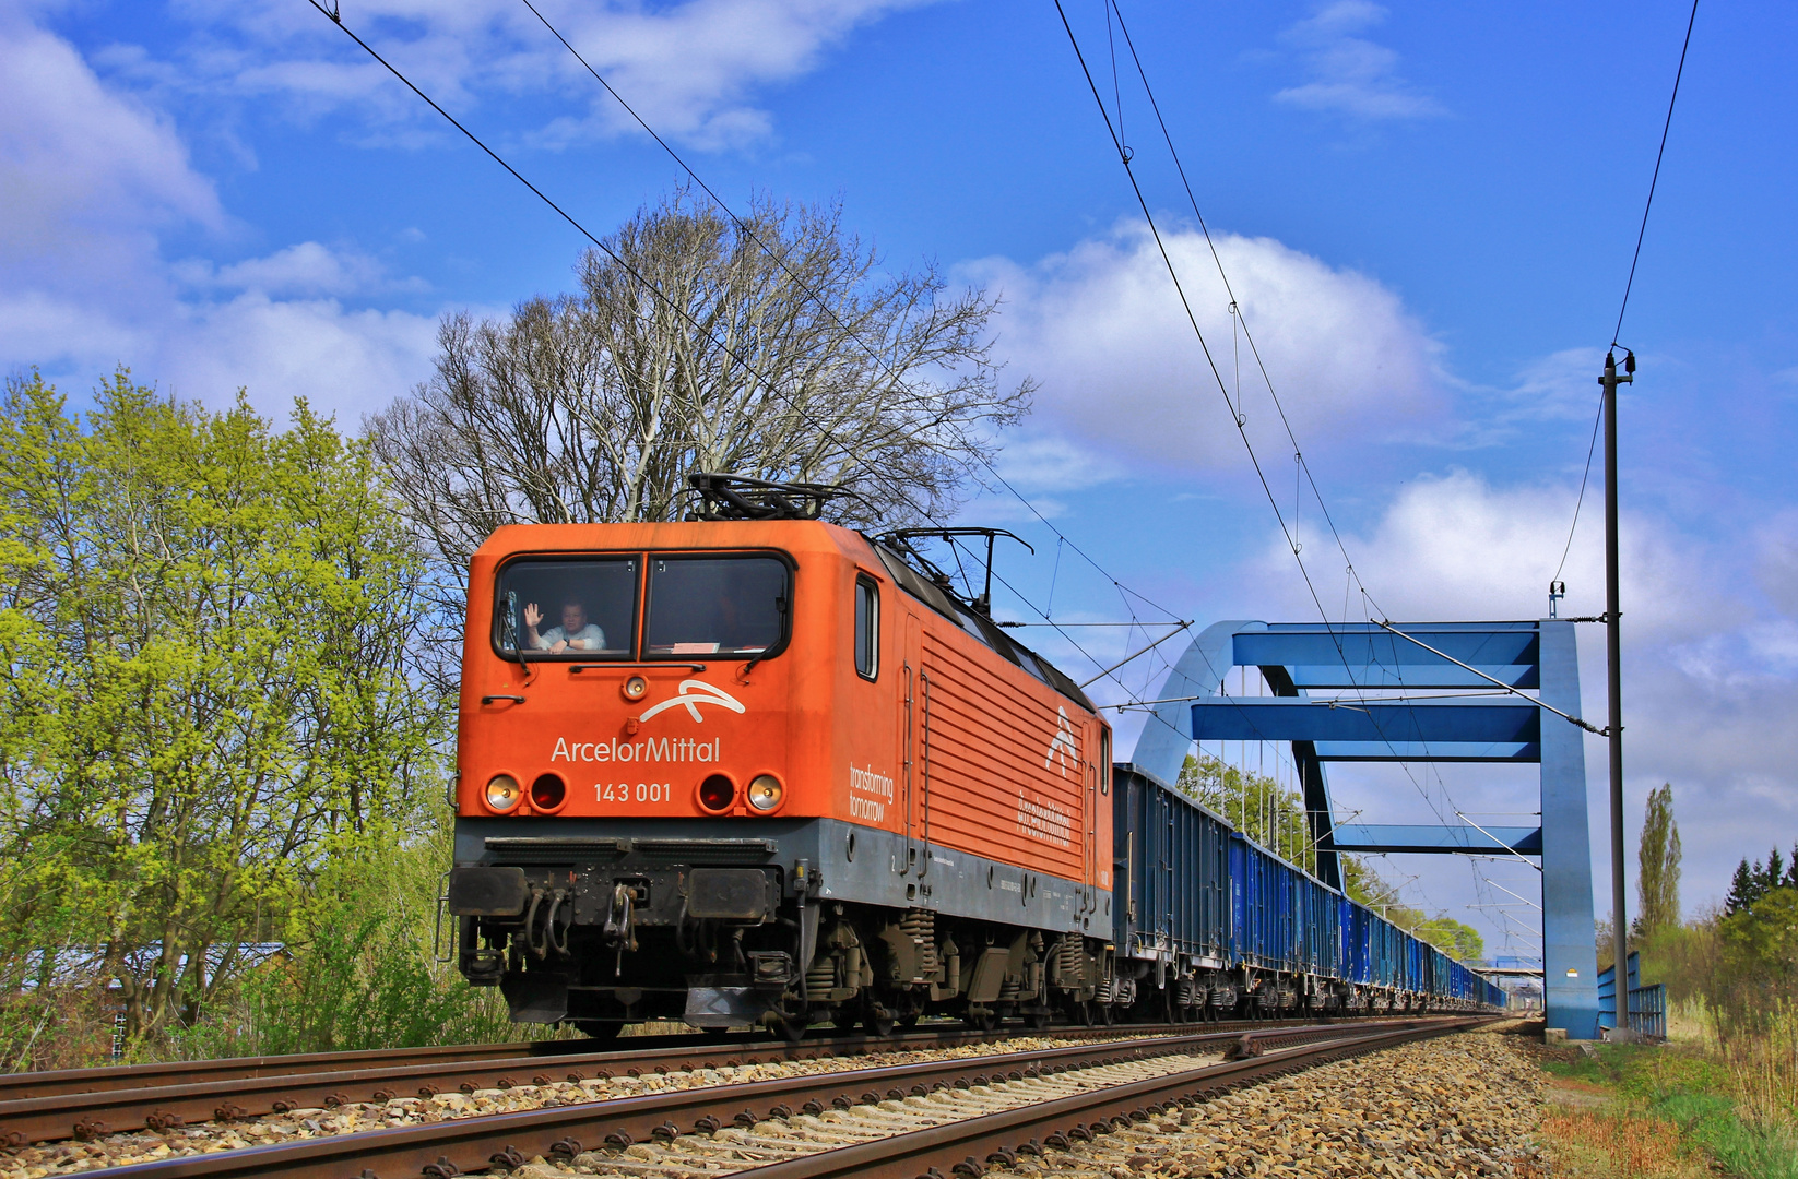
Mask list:
[[[512,561],[494,595],[494,647],[527,656],[626,660],[636,631],[636,559]]]

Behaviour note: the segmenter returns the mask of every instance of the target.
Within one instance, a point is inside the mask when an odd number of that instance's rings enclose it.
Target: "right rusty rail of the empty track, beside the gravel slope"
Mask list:
[[[1296,1073],[1350,1055],[1393,1048],[1406,1041],[1446,1035],[1489,1023],[1483,1015],[1438,1021],[1437,1026],[1393,1032],[1361,1032],[1278,1057],[1251,1057],[1212,1064],[1167,1077],[1126,1082],[1077,1093],[1052,1102],[1023,1105],[982,1118],[967,1118],[922,1130],[910,1130],[870,1143],[838,1147],[768,1166],[732,1172],[732,1179],[917,1179],[957,1174],[980,1175],[989,1165],[1014,1165],[1019,1154],[1043,1156],[1077,1141],[1149,1121],[1170,1105],[1215,1096],[1221,1091]]]

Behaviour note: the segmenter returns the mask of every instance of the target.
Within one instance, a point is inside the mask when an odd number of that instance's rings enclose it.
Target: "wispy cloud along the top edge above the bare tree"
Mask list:
[[[771,129],[759,86],[791,81],[852,29],[933,0],[538,0],[543,14],[653,128],[701,146],[741,144]],[[309,4],[185,0],[200,29],[196,84],[280,95],[298,113],[338,104],[376,111],[388,129],[435,119]],[[475,95],[554,92],[581,113],[536,135],[556,146],[636,131],[574,56],[516,0],[369,0],[345,25],[432,97],[466,110]],[[430,126],[432,133],[437,131]]]

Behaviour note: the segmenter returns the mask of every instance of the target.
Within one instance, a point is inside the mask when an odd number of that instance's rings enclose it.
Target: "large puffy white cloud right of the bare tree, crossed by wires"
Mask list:
[[[1257,451],[1291,453],[1205,237],[1163,230],[1226,388],[1237,385]],[[1300,442],[1431,433],[1440,424],[1437,345],[1374,279],[1266,237],[1215,237],[1242,316]],[[1241,467],[1242,442],[1162,255],[1140,223],[1034,266],[960,268],[1005,298],[998,349],[1043,383],[1039,421],[1079,446],[1174,467]]]

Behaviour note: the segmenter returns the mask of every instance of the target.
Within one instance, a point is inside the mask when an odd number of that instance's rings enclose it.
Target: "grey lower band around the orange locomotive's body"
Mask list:
[[[779,868],[788,881],[797,881],[802,868],[813,902],[931,909],[1021,929],[1113,936],[1109,890],[841,820],[458,818],[455,863],[601,872],[665,863],[762,864]]]

